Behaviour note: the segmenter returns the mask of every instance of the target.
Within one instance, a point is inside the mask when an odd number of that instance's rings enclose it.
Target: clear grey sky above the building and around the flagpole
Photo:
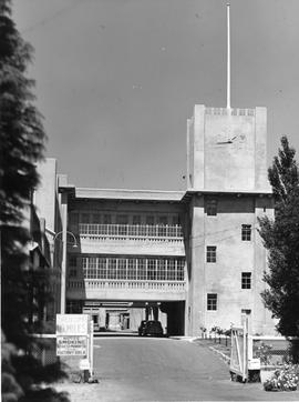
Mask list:
[[[298,0],[230,0],[231,107],[267,107],[268,165],[283,134],[299,152],[298,14]],[[226,107],[226,1],[13,0],[12,17],[60,173],[186,188],[186,120]]]

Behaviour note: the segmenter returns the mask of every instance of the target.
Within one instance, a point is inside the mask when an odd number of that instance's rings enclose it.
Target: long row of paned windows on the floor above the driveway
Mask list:
[[[185,260],[111,257],[71,257],[69,277],[84,279],[121,279],[148,281],[184,281]]]

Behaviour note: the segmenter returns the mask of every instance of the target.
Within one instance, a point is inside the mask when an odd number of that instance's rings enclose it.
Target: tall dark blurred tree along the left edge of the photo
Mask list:
[[[62,373],[43,368],[33,350],[37,341],[28,320],[28,289],[32,274],[24,247],[30,233],[23,211],[38,185],[35,163],[43,158],[45,134],[33,101],[34,81],[27,78],[32,48],[24,42],[11,19],[10,0],[0,0],[0,259],[2,326],[2,400],[59,401],[65,395],[41,390]],[[34,278],[34,281],[37,281]],[[41,279],[44,282],[44,277]],[[22,396],[21,396],[22,395]]]

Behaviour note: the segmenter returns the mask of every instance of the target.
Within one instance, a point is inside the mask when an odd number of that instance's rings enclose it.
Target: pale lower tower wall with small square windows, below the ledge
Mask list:
[[[218,213],[205,213],[205,195],[194,195],[190,232],[192,274],[188,292],[187,333],[198,335],[200,326],[229,329],[240,323],[241,309],[251,310],[254,333],[272,331],[260,292],[265,288],[266,251],[257,232],[257,217],[272,214],[268,197],[216,195]],[[241,240],[241,224],[251,224],[251,241]],[[206,247],[216,245],[216,262],[206,262]],[[251,272],[251,289],[241,289],[241,272]],[[217,310],[207,310],[207,293],[216,293]]]

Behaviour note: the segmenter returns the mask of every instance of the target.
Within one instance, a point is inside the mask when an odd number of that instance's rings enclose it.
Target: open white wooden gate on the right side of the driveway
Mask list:
[[[248,319],[243,326],[231,326],[231,349],[229,371],[231,380],[239,376],[243,382],[248,379]]]

